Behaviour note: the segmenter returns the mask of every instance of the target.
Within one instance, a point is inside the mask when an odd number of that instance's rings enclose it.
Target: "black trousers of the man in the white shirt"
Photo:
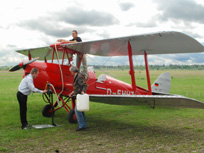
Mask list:
[[[17,99],[20,106],[20,118],[21,118],[21,124],[22,128],[25,127],[27,122],[27,97],[26,95],[22,94],[21,92],[17,92]]]

